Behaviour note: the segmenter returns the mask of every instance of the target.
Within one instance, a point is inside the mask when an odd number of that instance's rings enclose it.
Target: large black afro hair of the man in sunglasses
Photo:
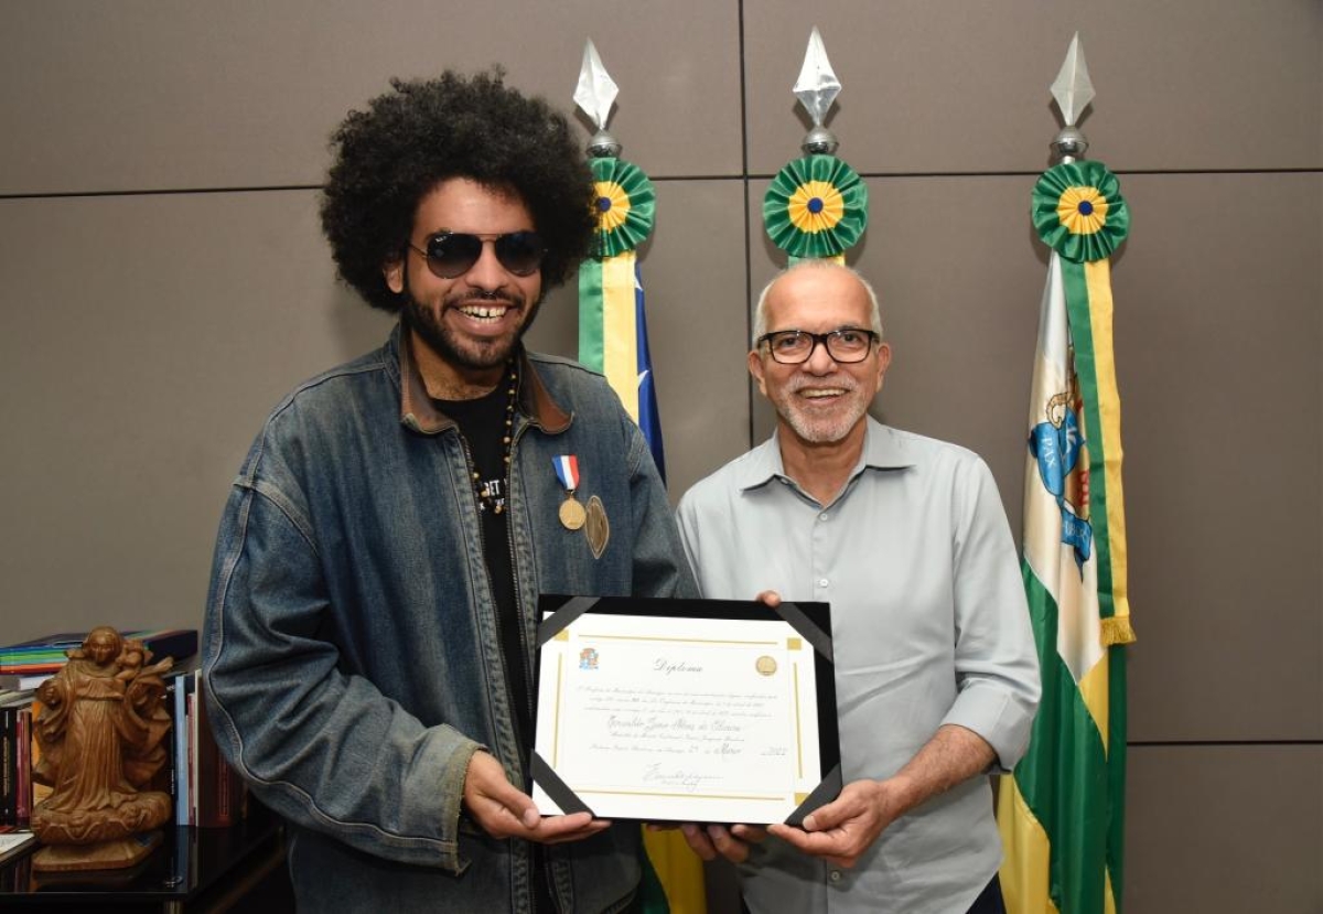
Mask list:
[[[499,67],[390,85],[331,138],[321,229],[340,278],[368,304],[398,312],[402,295],[382,267],[404,255],[422,198],[466,177],[524,202],[546,245],[542,287],[562,284],[589,255],[595,229],[593,173],[565,118],[508,89]]]

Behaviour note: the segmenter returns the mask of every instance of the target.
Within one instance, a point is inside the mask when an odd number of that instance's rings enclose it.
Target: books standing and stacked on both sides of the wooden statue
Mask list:
[[[123,635],[142,640],[153,661],[175,659],[175,668],[165,675],[164,704],[172,718],[168,762],[151,788],[169,791],[179,825],[237,823],[246,812],[247,794],[221,757],[206,720],[201,672],[196,668],[197,630]],[[41,758],[33,731],[41,714],[36,689],[60,671],[67,659],[65,652],[82,644],[83,638],[86,634],[61,634],[0,647],[0,833],[26,828],[33,807],[50,794],[49,787],[32,779],[32,769]]]

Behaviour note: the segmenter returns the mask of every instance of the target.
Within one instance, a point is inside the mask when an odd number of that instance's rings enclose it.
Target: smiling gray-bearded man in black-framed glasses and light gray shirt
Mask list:
[[[1004,910],[982,775],[1019,761],[1039,701],[1024,586],[983,460],[869,418],[890,356],[863,276],[782,272],[749,353],[775,434],[680,501],[704,597],[831,604],[840,796],[802,829],[684,827],[754,914]]]

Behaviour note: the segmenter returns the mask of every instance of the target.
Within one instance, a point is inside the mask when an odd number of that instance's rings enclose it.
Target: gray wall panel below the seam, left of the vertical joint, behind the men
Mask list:
[[[742,188],[667,181],[659,205],[708,226],[673,217],[643,253],[679,497],[747,442],[745,279],[726,266],[744,259]],[[49,612],[69,627],[194,623],[262,419],[298,381],[378,345],[392,319],[335,283],[311,190],[0,201],[0,249],[4,468],[24,480],[13,516],[40,519],[0,528],[8,595],[44,608],[19,628],[40,635]],[[573,357],[577,327],[572,282],[529,343]]]

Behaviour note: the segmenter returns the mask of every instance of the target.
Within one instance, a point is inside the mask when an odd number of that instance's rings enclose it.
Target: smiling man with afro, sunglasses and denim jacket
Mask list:
[[[590,172],[499,73],[396,82],[333,143],[332,255],[400,323],[291,393],[234,481],[218,743],[288,820],[300,911],[626,910],[639,829],[523,790],[538,594],[695,593],[638,426],[521,343],[589,253]]]

